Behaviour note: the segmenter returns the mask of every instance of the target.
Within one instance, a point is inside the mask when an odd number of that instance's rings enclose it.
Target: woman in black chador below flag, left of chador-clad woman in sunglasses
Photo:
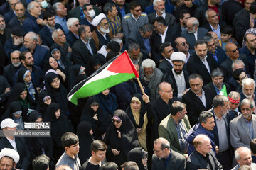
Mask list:
[[[102,135],[110,126],[111,118],[100,108],[99,101],[96,97],[90,97],[82,109],[80,121],[91,123],[95,139],[102,140]]]

